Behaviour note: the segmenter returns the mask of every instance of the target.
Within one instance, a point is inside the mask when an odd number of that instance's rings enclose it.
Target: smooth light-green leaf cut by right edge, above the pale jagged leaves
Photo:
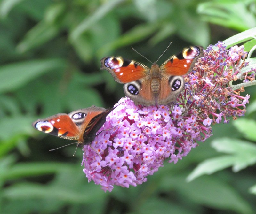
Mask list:
[[[251,141],[256,141],[256,121],[252,119],[239,118],[233,121],[234,126],[244,137]]]

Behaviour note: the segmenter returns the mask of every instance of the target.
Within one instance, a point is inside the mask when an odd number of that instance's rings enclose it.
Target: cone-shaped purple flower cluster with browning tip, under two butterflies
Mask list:
[[[122,98],[106,118],[91,145],[84,145],[84,173],[104,191],[114,185],[129,187],[147,181],[163,166],[186,156],[196,141],[211,135],[211,124],[244,115],[249,95],[232,90],[230,81],[246,64],[243,47],[226,50],[221,42],[209,46],[185,77],[185,89],[177,103],[168,106],[136,106]],[[246,76],[253,80],[253,76]]]

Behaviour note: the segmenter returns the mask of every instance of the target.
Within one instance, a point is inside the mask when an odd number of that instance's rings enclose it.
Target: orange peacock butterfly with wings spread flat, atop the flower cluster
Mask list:
[[[168,58],[160,67],[154,62],[151,68],[122,57],[104,57],[101,69],[108,70],[116,82],[124,84],[124,93],[136,105],[166,105],[174,102],[184,88],[181,75],[189,73],[203,47],[193,46]]]

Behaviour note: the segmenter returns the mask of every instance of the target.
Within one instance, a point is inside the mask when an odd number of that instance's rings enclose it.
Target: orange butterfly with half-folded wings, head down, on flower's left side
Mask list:
[[[33,126],[47,134],[77,140],[77,143],[81,145],[91,144],[96,133],[105,123],[107,115],[114,108],[104,109],[93,105],[69,114],[60,113],[45,119],[38,119]]]

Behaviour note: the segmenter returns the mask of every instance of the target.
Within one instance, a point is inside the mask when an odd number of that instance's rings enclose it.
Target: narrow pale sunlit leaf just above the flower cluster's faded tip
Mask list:
[[[225,43],[227,48],[230,48],[231,46],[234,46],[236,44],[251,40],[252,36],[255,36],[255,35],[256,35],[256,27],[253,27],[249,30],[245,30],[239,34],[231,36],[228,39],[225,39],[223,42]]]

